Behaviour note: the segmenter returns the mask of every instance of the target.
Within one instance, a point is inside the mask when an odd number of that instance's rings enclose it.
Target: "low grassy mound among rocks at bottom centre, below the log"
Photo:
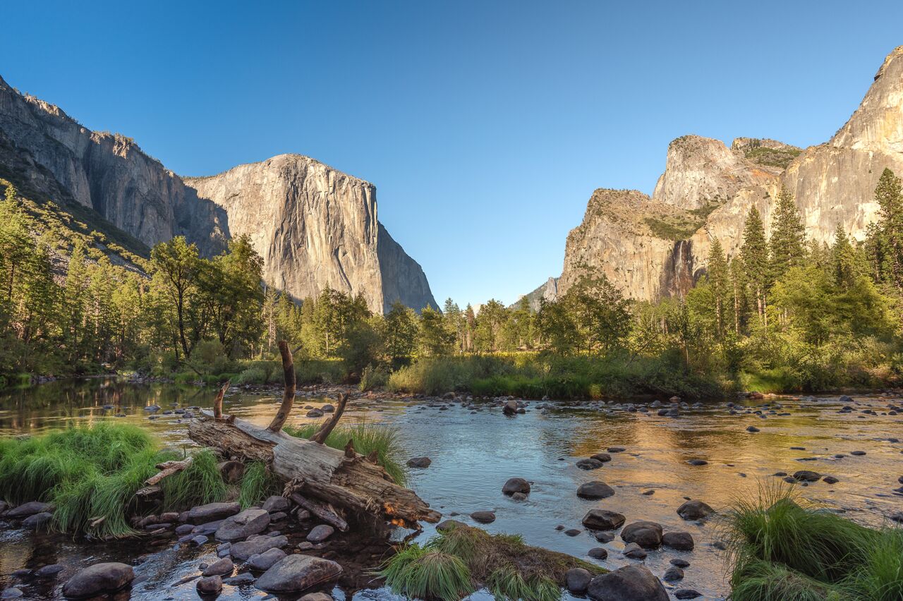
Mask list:
[[[568,569],[605,570],[563,553],[527,546],[519,536],[489,534],[463,524],[423,545],[405,545],[378,574],[396,593],[460,599],[488,587],[498,599],[557,601]]]

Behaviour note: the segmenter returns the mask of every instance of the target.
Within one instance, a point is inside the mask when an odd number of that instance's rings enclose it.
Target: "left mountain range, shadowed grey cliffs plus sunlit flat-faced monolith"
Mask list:
[[[299,154],[182,178],[131,138],[91,131],[0,78],[0,176],[96,217],[138,254],[185,236],[209,256],[247,234],[265,282],[296,299],[329,286],[377,312],[437,307],[423,269],[379,223],[376,187]]]

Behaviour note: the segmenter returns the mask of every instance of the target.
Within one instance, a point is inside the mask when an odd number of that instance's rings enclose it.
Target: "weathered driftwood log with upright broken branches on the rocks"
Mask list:
[[[421,520],[438,522],[440,513],[430,509],[414,491],[397,485],[373,458],[356,453],[353,445],[342,451],[323,444],[345,410],[347,394],[340,395],[336,411],[312,439],[298,439],[282,431],[292,411],[295,381],[292,351],[284,341],[279,342],[279,351],[285,392],[272,423],[263,428],[234,416],[222,417],[222,397],[218,396],[214,411],[201,411],[191,421],[191,439],[219,448],[228,457],[265,462],[287,483],[285,495],[307,501],[309,510],[325,504],[346,513],[346,517],[382,518],[409,527],[418,527]]]

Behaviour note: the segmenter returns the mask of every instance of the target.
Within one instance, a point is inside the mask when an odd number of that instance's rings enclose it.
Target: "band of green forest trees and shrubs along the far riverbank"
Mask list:
[[[0,183],[5,384],[113,372],[279,382],[279,339],[292,345],[302,383],[408,393],[699,397],[876,387],[903,369],[903,192],[889,170],[863,241],[842,227],[831,244],[807,239],[782,190],[770,236],[750,209],[739,252],[728,257],[713,240],[707,271],[684,298],[629,301],[585,269],[538,310],[523,299],[479,308],[449,300],[441,311],[396,304],[385,315],[342,291],[293,299],[266,286],[247,237],[210,259],[182,236],[141,257],[96,232],[73,236]]]

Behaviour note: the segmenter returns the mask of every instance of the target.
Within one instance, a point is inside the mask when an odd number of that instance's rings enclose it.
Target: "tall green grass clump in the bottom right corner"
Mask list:
[[[903,532],[874,530],[763,488],[727,515],[731,599],[903,598]]]

